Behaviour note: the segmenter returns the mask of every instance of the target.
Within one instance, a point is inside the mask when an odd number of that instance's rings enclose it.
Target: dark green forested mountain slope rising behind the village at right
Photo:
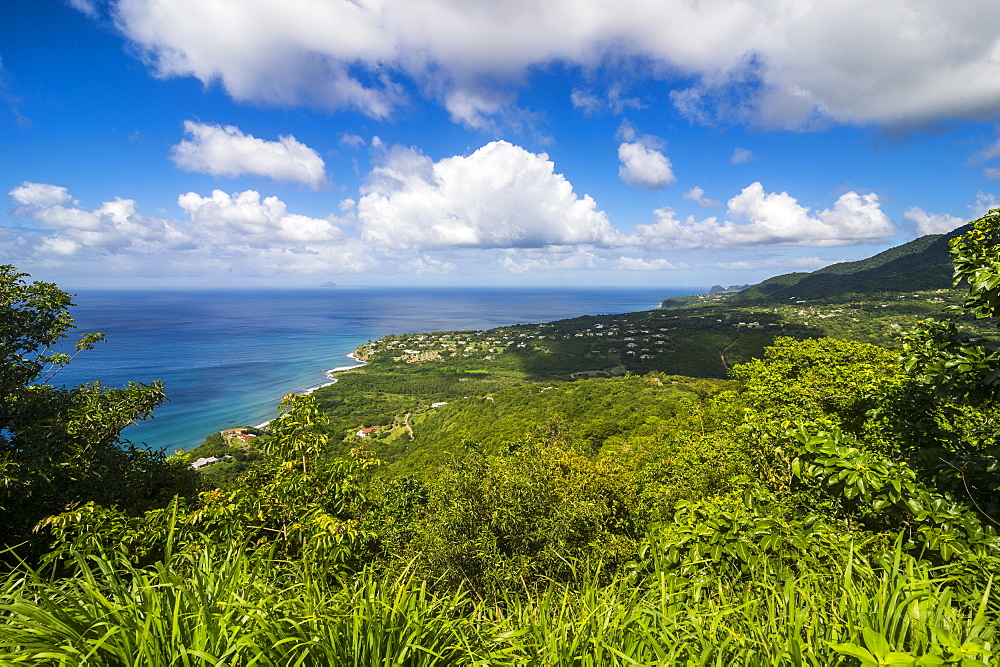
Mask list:
[[[786,273],[734,294],[730,303],[787,303],[789,299],[838,299],[850,295],[912,292],[951,286],[948,234],[928,234],[857,262],[841,262],[812,273]]]

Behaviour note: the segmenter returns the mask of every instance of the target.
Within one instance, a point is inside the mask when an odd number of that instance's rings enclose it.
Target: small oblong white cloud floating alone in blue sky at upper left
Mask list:
[[[190,120],[184,121],[184,132],[190,138],[174,146],[170,158],[185,171],[231,178],[248,174],[266,176],[313,189],[327,182],[323,158],[291,135],[265,141],[232,125]]]

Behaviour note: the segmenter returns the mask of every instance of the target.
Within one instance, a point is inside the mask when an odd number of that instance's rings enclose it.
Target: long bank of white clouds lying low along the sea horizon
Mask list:
[[[186,192],[176,200],[181,215],[152,216],[141,213],[133,199],[115,197],[88,207],[65,187],[26,181],[9,191],[21,226],[8,251],[16,248],[20,256],[41,262],[83,266],[99,258],[109,266],[174,267],[191,275],[373,270],[434,275],[489,266],[528,275],[677,271],[699,261],[691,250],[840,246],[897,232],[874,194],[850,191],[813,210],[787,192],[767,192],[755,182],[729,199],[724,217],[681,220],[661,207],[653,211],[653,223],[626,233],[593,198],[578,193],[545,153],[494,141],[468,155],[435,161],[377,137],[370,144],[376,165],[360,197],[331,201],[325,216],[305,215],[252,189]],[[719,205],[700,188],[684,196]],[[924,227],[945,224],[924,215],[913,220]],[[740,261],[734,259],[729,268]]]

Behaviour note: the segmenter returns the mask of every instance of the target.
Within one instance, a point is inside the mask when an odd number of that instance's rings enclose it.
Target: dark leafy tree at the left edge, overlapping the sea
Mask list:
[[[94,501],[141,512],[189,494],[196,479],[122,430],[163,402],[160,382],[111,388],[54,384],[59,370],[103,340],[75,328],[72,296],[0,266],[0,544],[30,539],[40,519]]]

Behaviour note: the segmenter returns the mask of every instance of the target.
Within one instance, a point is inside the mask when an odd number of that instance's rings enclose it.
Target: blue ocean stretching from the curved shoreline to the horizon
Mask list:
[[[329,288],[86,290],[73,309],[78,332],[108,342],[54,378],[163,380],[170,401],[131,426],[136,444],[190,448],[206,435],[275,415],[288,392],[329,381],[354,365],[359,345],[388,334],[488,329],[580,315],[655,308],[698,288]]]

